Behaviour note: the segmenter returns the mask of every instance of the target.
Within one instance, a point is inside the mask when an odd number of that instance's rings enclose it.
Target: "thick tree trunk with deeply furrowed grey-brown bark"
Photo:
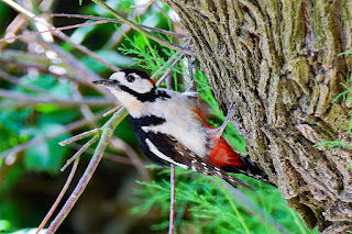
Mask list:
[[[314,145],[346,142],[351,85],[351,0],[163,0],[191,37],[221,108],[235,103],[248,152],[307,226],[352,231],[351,151]]]

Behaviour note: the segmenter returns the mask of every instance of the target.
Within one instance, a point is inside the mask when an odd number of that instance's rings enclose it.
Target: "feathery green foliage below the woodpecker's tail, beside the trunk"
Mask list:
[[[165,221],[151,226],[165,230],[168,226],[169,169],[158,172],[153,182],[139,182],[132,200],[133,214],[146,215],[160,210]],[[256,192],[240,188],[233,191],[220,180],[188,170],[176,170],[177,233],[317,233],[304,226],[298,214],[287,208],[279,191],[268,185],[246,180]]]

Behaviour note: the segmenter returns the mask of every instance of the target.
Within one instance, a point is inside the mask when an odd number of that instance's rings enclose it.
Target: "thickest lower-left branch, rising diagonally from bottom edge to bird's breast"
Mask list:
[[[113,116],[102,126],[101,137],[97,145],[94,156],[91,157],[89,165],[87,166],[82,177],[79,179],[79,182],[73,193],[67,199],[64,208],[59,211],[55,220],[51,223],[46,233],[55,233],[65,218],[68,215],[69,211],[74,208],[75,203],[86,189],[90,178],[92,177],[95,170],[97,169],[99,161],[103,155],[103,152],[110,141],[114,129],[120,124],[120,122],[127,116],[128,112],[123,108],[119,112],[114,113]]]

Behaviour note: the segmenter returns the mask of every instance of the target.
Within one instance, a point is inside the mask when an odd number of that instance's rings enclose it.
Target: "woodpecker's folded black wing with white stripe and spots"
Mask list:
[[[148,132],[147,137],[145,138],[145,144],[154,155],[169,164],[174,164],[182,168],[207,176],[217,176],[226,180],[234,188],[240,185],[253,190],[244,181],[228,175],[220,167],[204,160],[201,157],[197,156],[195,153],[183,146],[179,142],[177,142],[177,140],[169,135]]]

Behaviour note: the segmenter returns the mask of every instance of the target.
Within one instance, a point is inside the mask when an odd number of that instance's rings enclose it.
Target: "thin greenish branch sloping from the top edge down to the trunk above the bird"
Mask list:
[[[105,2],[102,2],[101,0],[91,0],[94,2],[96,2],[97,4],[99,4],[100,7],[102,7],[103,9],[106,9],[107,11],[109,11],[113,16],[118,18],[119,20],[121,20],[123,23],[128,24],[129,26],[131,26],[132,29],[134,29],[135,31],[148,36],[151,40],[165,45],[172,49],[175,49],[177,52],[182,52],[188,55],[193,55],[196,56],[196,53],[194,51],[190,51],[188,48],[182,47],[179,45],[173,44],[160,36],[156,36],[155,34],[142,29],[140,25],[138,25],[136,23],[129,21],[127,19],[124,19],[119,12],[117,12],[116,10],[111,9],[109,5],[107,5]]]

